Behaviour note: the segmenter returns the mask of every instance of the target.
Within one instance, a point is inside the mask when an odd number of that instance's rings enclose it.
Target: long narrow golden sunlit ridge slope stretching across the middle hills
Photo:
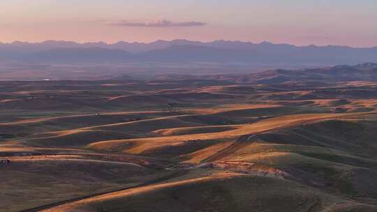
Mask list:
[[[308,121],[318,121],[321,119],[332,119],[341,116],[354,116],[355,114],[300,114],[292,116],[279,116],[277,118],[266,119],[252,124],[232,126],[234,130],[223,132],[209,132],[193,135],[177,135],[165,137],[147,137],[141,139],[124,139],[97,142],[90,144],[90,149],[97,151],[124,151],[126,153],[142,154],[151,153],[154,150],[175,148],[176,146],[189,146],[193,144],[205,145],[206,141],[221,141],[226,139],[236,139],[242,135],[256,134],[277,128],[287,128]]]

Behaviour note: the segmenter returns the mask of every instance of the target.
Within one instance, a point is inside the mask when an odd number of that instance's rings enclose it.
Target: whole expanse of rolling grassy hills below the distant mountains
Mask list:
[[[1,82],[0,212],[377,211],[375,83],[218,77]]]

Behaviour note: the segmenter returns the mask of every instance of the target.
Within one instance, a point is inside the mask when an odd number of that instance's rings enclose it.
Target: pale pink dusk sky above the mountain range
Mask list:
[[[0,42],[242,40],[377,46],[376,0],[2,0]]]

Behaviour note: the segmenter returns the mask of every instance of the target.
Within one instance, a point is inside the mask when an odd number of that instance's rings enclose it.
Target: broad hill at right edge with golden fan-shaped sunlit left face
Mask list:
[[[232,144],[191,153],[185,162],[290,179],[348,197],[375,199],[377,183],[370,179],[377,179],[377,120],[376,114],[369,114],[369,120],[365,117],[333,117],[239,137]]]

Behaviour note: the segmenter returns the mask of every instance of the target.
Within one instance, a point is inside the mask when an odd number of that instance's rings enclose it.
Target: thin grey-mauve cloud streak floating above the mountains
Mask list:
[[[171,22],[169,20],[156,20],[153,22],[128,22],[122,21],[117,22],[112,25],[119,27],[202,27],[205,26],[204,22]]]

